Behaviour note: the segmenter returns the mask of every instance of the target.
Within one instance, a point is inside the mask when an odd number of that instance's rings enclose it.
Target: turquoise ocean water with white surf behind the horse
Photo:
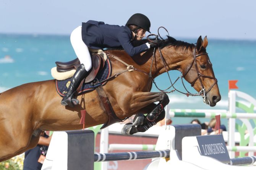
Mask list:
[[[177,38],[196,43],[197,39]],[[186,97],[178,92],[169,94],[170,105],[179,109],[228,109],[228,80],[237,79],[239,91],[256,98],[256,40],[215,40],[208,38],[207,52],[218,80],[222,100],[215,107],[203,103],[201,97]],[[76,55],[68,35],[6,35],[0,34],[0,92],[24,83],[53,79],[50,69],[55,61],[69,61]],[[170,71],[172,80],[180,76]],[[165,89],[170,86],[167,74],[155,80]],[[175,86],[185,91],[178,83]],[[190,92],[195,92],[186,84]],[[158,91],[153,85],[152,91]],[[186,122],[191,118],[186,119]],[[183,119],[183,122],[185,120]]]

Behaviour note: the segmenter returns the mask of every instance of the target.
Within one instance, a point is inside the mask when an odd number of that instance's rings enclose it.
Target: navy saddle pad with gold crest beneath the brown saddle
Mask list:
[[[78,95],[81,95],[88,91],[92,91],[100,85],[104,86],[107,83],[107,81],[104,81],[102,83],[97,83],[97,82],[100,82],[104,79],[109,78],[111,76],[111,72],[112,72],[111,62],[108,58],[105,61],[104,68],[99,71],[96,78],[89,83],[84,83],[83,86],[80,87]],[[62,97],[65,96],[65,93],[67,92],[68,87],[70,85],[71,79],[72,79],[72,77],[65,79],[65,80],[55,80],[56,89],[60,96],[62,96]],[[93,82],[93,84],[91,84],[92,82]]]

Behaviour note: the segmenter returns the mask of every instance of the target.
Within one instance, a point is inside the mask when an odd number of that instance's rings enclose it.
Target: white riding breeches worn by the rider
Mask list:
[[[77,27],[70,35],[70,41],[75,50],[76,56],[81,64],[84,64],[85,70],[92,68],[92,60],[88,47],[82,40],[82,26]]]

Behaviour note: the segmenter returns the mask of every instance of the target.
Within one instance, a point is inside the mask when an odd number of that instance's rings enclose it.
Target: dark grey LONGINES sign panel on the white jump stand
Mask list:
[[[210,156],[223,163],[230,162],[230,157],[222,135],[204,135],[197,136],[196,138],[202,156]]]

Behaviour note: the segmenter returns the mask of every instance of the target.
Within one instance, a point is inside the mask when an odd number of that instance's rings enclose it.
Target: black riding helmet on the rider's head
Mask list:
[[[149,33],[151,33],[149,31],[150,29],[150,21],[148,19],[148,17],[146,17],[143,14],[133,14],[127,21],[127,23],[125,25],[136,25],[138,27],[143,28],[144,30],[148,31]]]

